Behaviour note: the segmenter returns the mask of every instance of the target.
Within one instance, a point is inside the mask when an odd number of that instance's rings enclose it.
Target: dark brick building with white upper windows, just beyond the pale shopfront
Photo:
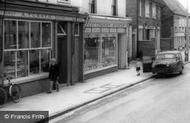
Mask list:
[[[141,57],[142,54],[152,55],[160,50],[161,5],[160,0],[126,0],[126,14],[133,19],[133,58]],[[154,48],[151,51],[149,48],[152,45],[141,47],[143,42],[152,44],[153,41]]]

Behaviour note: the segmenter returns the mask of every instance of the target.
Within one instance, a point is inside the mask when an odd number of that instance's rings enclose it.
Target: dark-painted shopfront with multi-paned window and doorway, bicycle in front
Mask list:
[[[83,79],[78,56],[83,54],[79,30],[83,30],[85,16],[78,8],[31,1],[6,1],[6,10],[3,7],[0,71],[21,84],[23,96],[46,90],[51,58],[60,65],[61,83]]]

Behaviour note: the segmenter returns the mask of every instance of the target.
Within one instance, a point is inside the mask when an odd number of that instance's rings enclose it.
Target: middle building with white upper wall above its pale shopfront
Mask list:
[[[88,13],[84,30],[84,79],[127,68],[131,57],[131,18],[125,0],[71,0]]]

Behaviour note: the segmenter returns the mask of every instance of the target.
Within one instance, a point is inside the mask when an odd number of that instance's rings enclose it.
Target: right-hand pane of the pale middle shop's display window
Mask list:
[[[116,38],[103,37],[102,43],[103,67],[116,64]]]

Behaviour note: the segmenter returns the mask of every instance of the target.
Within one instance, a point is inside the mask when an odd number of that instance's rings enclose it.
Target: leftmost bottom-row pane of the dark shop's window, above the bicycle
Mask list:
[[[8,76],[15,77],[15,52],[4,52],[4,72]]]

